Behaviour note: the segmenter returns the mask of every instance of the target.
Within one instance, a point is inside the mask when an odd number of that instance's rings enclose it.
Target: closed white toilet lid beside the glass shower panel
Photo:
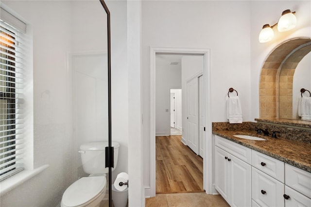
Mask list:
[[[81,206],[96,198],[106,187],[106,177],[82,177],[65,190],[62,203],[66,207]]]

